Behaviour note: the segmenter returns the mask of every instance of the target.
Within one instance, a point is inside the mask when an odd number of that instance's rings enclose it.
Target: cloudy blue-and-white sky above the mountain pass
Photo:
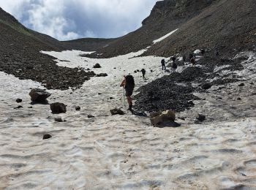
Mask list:
[[[121,37],[141,26],[157,0],[0,0],[34,31],[59,40]]]

